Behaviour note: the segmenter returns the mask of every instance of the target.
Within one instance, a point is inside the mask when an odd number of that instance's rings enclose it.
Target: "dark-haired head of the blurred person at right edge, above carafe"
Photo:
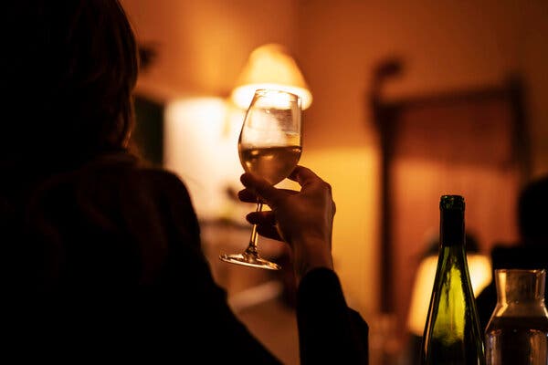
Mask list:
[[[548,175],[528,183],[518,199],[518,228],[525,245],[548,245]]]

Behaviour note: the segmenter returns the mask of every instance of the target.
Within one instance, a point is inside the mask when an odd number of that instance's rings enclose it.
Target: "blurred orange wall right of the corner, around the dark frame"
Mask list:
[[[374,66],[386,57],[404,61],[402,77],[385,89],[386,99],[497,85],[509,73],[521,73],[533,170],[548,172],[548,3],[299,4],[299,56],[315,98],[307,119],[307,157],[325,169],[324,176],[339,194],[335,253],[343,277],[354,283],[350,294],[361,299],[361,308],[371,309],[367,292],[374,288],[376,272],[378,215],[372,206],[377,203],[378,163],[367,97]]]

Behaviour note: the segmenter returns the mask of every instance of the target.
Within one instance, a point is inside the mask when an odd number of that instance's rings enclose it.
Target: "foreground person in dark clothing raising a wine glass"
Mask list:
[[[2,10],[3,356],[279,364],[216,284],[184,182],[132,149],[139,58],[121,3]],[[304,166],[290,179],[300,191],[243,174],[238,196],[269,204],[248,221],[290,247],[300,361],[366,364],[367,323],[332,266],[332,187]]]

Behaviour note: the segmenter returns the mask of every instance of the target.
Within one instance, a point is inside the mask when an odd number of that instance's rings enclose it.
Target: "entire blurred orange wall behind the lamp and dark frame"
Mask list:
[[[227,96],[249,52],[279,42],[314,96],[302,163],[332,183],[333,252],[351,304],[378,308],[379,151],[367,104],[374,65],[401,57],[385,98],[501,83],[527,89],[534,174],[548,172],[548,3],[360,0],[123,0],[159,52],[138,89],[152,98]]]

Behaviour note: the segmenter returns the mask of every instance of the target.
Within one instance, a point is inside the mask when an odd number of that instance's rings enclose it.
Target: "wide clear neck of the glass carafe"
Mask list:
[[[500,304],[543,302],[544,270],[495,270],[497,300]]]

